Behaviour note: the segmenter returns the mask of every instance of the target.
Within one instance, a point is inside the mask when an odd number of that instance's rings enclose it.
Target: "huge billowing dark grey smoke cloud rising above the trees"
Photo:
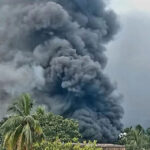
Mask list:
[[[102,0],[0,0],[1,103],[30,92],[85,139],[115,140],[123,110],[103,70],[118,27]]]

